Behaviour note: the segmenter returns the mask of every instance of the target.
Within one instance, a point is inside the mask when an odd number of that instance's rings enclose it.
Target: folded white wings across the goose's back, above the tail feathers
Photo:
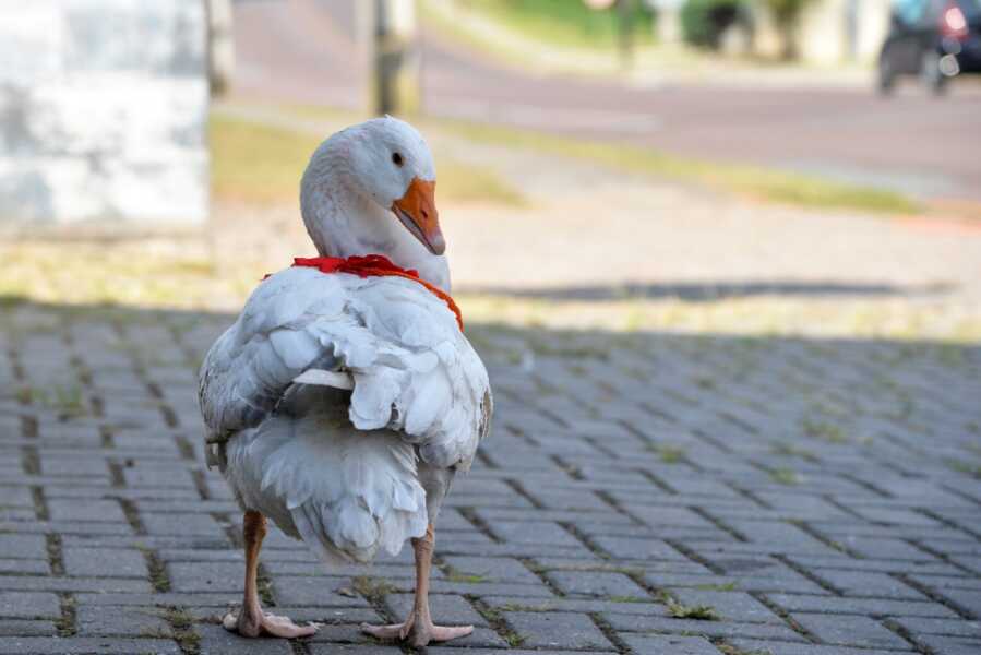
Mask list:
[[[310,267],[260,284],[205,356],[199,400],[207,442],[259,425],[291,385],[338,373],[352,382],[356,428],[400,431],[428,463],[469,467],[492,398],[453,312],[409,279]]]

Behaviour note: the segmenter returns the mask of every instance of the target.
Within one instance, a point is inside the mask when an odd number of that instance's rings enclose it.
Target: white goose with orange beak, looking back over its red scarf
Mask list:
[[[450,291],[422,136],[391,118],[338,132],[301,183],[322,257],[383,254]],[[447,303],[404,277],[291,267],[265,279],[208,350],[200,401],[210,464],[244,511],[244,636],[312,634],[265,614],[255,573],[265,516],[327,561],[368,562],[411,539],[416,600],[405,622],[361,628],[414,645],[469,634],[429,611],[433,524],[492,412],[487,370]]]

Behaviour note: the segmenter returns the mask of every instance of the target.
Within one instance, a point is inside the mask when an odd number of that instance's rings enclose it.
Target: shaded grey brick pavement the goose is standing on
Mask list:
[[[408,550],[330,570],[273,531],[248,642],[239,513],[195,368],[228,315],[2,308],[0,655],[393,653]],[[498,414],[438,528],[433,653],[981,652],[981,348],[469,327]]]

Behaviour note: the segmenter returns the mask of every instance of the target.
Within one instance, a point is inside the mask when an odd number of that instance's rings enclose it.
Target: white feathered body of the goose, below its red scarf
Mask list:
[[[295,382],[314,371],[348,372],[354,390]],[[426,533],[419,465],[469,468],[489,391],[456,317],[418,283],[292,267],[211,348],[201,405],[231,434],[223,472],[244,508],[363,562]]]

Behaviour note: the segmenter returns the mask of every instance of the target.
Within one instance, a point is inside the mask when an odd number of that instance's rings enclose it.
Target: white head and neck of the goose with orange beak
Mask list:
[[[388,116],[368,120],[313,153],[300,184],[303,223],[321,254],[384,254],[424,277],[445,269],[435,181],[432,154],[414,127]]]

